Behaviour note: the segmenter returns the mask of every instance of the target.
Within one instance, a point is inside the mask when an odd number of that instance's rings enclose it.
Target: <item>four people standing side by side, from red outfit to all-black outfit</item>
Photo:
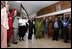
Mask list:
[[[32,39],[32,34],[35,32],[34,20],[19,17],[17,12],[16,9],[13,9],[8,14],[9,29],[7,30],[7,46],[10,46],[10,41],[14,44],[18,43],[18,39],[24,41],[25,33],[27,31],[29,31],[28,39]]]

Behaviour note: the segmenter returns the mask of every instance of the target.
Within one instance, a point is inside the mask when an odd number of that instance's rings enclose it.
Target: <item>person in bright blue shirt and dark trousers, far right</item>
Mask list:
[[[65,43],[68,43],[68,23],[69,20],[67,20],[67,18],[61,20],[62,24],[63,24],[63,28],[62,28],[62,33],[63,33],[63,39]]]

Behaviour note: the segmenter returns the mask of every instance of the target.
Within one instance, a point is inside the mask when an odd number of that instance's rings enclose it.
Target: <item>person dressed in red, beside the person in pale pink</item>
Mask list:
[[[13,9],[12,11],[10,11],[9,15],[8,15],[8,25],[9,25],[9,29],[7,30],[7,46],[9,45],[10,39],[13,35],[13,16],[14,16],[14,12],[16,9]]]

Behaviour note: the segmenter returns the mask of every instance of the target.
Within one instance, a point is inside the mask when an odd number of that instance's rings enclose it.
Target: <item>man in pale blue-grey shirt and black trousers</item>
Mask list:
[[[54,29],[53,40],[58,40],[58,37],[59,37],[59,22],[58,22],[57,18],[55,18],[55,21],[53,22],[52,28]]]

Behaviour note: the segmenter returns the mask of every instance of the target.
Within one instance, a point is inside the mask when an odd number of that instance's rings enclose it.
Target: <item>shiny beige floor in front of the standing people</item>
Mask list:
[[[27,39],[28,34],[25,35],[25,41],[18,41],[18,44],[11,43],[8,48],[71,48],[71,42],[64,43],[63,40],[52,41],[52,38],[35,39],[34,34],[32,40]]]

